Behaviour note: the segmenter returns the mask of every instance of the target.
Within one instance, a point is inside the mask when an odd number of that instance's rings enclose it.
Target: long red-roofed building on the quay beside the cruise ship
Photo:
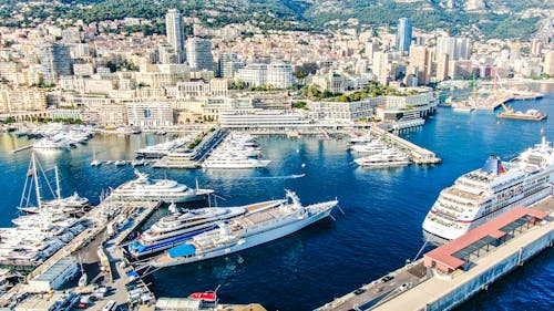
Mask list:
[[[451,273],[470,262],[471,256],[497,247],[525,228],[533,227],[548,215],[529,207],[517,207],[479,226],[460,238],[423,256],[425,267]]]

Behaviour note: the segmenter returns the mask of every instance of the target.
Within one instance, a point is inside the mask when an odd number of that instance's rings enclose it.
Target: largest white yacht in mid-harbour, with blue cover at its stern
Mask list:
[[[337,204],[331,200],[302,206],[297,195],[287,190],[286,203],[259,207],[242,217],[219,221],[217,229],[166,250],[142,268],[191,263],[269,242],[328,217]]]

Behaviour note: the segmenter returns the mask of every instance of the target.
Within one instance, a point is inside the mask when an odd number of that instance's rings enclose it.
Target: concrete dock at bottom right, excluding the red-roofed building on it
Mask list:
[[[547,218],[519,231],[499,247],[491,247],[484,255],[472,256],[468,269],[438,273],[418,260],[390,273],[393,279],[381,278],[316,310],[451,310],[544,248],[552,247],[554,198],[551,196],[532,208],[546,212]]]

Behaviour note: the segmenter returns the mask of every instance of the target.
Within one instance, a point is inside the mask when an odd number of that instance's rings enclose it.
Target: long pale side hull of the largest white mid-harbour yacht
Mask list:
[[[316,214],[309,218],[306,219],[297,219],[296,221],[284,224],[277,227],[274,227],[268,230],[264,230],[261,232],[254,232],[253,235],[246,235],[243,236],[238,241],[235,241],[233,243],[228,245],[223,245],[216,249],[212,249],[211,251],[207,252],[201,252],[197,255],[194,255],[192,257],[185,257],[183,259],[177,259],[177,260],[172,260],[172,261],[164,261],[164,262],[157,262],[154,261],[152,262],[153,267],[156,268],[164,268],[164,267],[171,267],[171,266],[178,266],[178,265],[184,265],[184,263],[192,263],[196,261],[202,261],[211,258],[216,258],[225,255],[230,255],[237,251],[245,250],[250,247],[255,247],[261,243],[266,243],[279,238],[283,238],[285,236],[291,235],[320,219],[324,219],[329,216],[331,212],[332,208],[329,208],[325,211],[321,211],[319,214]]]

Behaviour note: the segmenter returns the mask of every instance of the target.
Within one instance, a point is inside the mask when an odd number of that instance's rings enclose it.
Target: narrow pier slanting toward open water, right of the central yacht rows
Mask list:
[[[439,164],[442,162],[442,159],[433,152],[420,147],[379,127],[371,127],[369,133],[370,135],[381,139],[384,144],[406,153],[414,164]]]

